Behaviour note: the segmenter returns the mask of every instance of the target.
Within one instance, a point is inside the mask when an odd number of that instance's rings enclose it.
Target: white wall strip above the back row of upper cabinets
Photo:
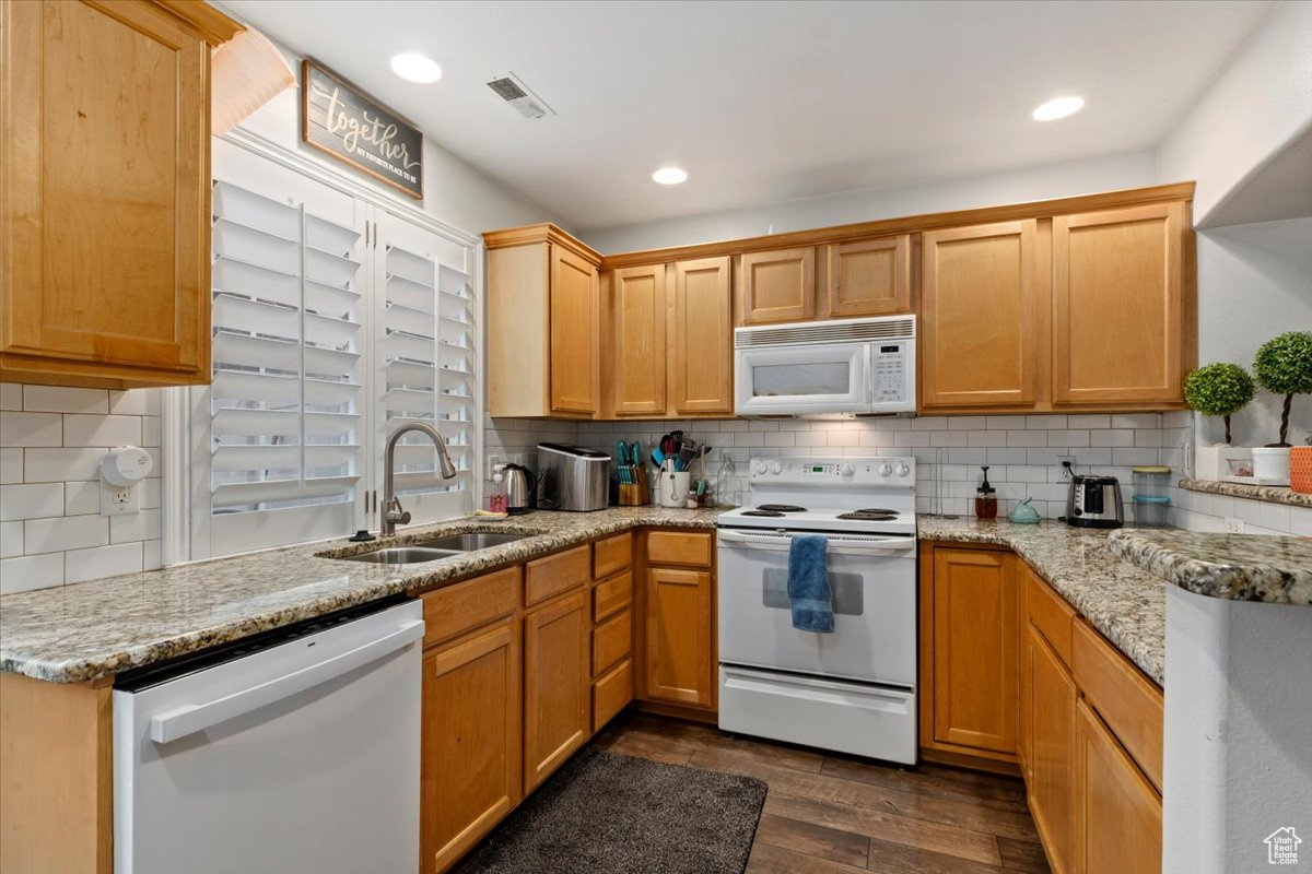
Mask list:
[[[1152,152],[1106,155],[975,176],[922,180],[813,198],[779,200],[678,219],[592,228],[580,231],[579,237],[606,254],[659,249],[922,212],[971,210],[1025,200],[1048,200],[1094,191],[1143,187],[1157,182],[1156,173]],[[1183,178],[1166,181],[1182,181]]]

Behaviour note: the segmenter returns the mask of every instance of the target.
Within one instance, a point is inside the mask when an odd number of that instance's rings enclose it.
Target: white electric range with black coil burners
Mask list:
[[[916,761],[916,459],[750,463],[752,504],[720,514],[719,726]],[[828,539],[834,632],[792,628],[794,535]]]

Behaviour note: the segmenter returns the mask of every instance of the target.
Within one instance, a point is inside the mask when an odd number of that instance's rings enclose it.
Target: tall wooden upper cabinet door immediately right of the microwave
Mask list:
[[[922,248],[921,406],[1033,404],[1046,297],[1038,221],[932,231]]]

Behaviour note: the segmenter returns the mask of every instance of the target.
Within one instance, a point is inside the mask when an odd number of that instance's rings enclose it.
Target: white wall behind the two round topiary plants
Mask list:
[[[1312,218],[1198,232],[1198,363],[1250,372],[1257,347],[1287,330],[1312,330]],[[1265,389],[1232,418],[1235,446],[1274,443],[1281,405]],[[1219,418],[1199,417],[1200,444],[1220,443]],[[1312,396],[1296,394],[1290,443],[1312,428]]]

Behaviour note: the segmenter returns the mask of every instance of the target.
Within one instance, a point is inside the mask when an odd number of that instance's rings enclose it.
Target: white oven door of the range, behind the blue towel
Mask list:
[[[787,532],[719,531],[720,662],[916,685],[916,537],[827,535],[834,632],[792,628]]]

